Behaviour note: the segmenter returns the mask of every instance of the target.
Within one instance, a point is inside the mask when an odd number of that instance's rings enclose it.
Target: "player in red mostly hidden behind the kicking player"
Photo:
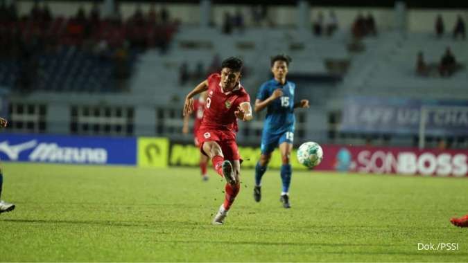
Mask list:
[[[196,147],[200,146],[197,138],[197,131],[202,124],[203,111],[205,110],[205,101],[207,100],[208,93],[205,91],[200,94],[198,100],[193,101],[193,115],[195,115],[195,121],[193,122],[193,142]],[[184,134],[189,133],[189,118],[190,116],[184,116],[184,127],[182,127],[182,132]],[[203,181],[208,181],[207,166],[208,166],[208,156],[200,152],[200,172],[202,174]]]

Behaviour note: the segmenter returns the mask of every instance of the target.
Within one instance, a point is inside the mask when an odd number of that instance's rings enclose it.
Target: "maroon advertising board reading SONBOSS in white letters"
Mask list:
[[[468,176],[468,150],[338,145],[322,145],[322,148],[324,158],[315,170],[367,174]]]

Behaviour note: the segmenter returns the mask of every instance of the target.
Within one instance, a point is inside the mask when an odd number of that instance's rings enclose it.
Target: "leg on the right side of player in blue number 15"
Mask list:
[[[291,168],[290,158],[293,151],[293,143],[290,141],[282,141],[279,144],[279,152],[281,153],[281,202],[284,208],[291,208],[289,203],[289,185],[291,185],[291,175],[293,169]]]

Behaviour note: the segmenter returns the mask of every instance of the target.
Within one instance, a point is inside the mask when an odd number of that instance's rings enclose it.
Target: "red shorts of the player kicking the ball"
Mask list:
[[[196,138],[202,154],[205,154],[203,152],[203,143],[214,141],[221,147],[226,160],[237,161],[241,158],[239,149],[237,148],[236,135],[232,131],[198,129]]]

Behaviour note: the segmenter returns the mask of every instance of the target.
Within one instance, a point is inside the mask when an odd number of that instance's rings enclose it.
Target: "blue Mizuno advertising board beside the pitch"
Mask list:
[[[41,163],[136,165],[137,139],[2,133],[0,158]]]

